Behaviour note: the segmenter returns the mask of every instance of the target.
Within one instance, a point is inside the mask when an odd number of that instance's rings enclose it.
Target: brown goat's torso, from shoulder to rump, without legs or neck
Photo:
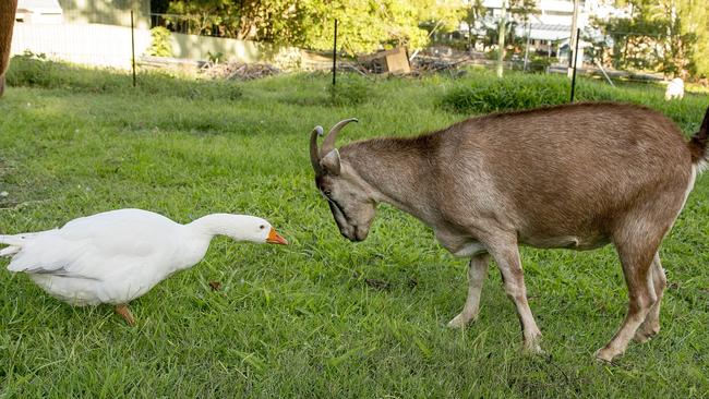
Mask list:
[[[592,241],[639,207],[665,209],[666,216],[654,216],[674,220],[692,174],[676,125],[630,105],[491,114],[436,138],[436,197],[444,216],[489,213],[522,240]]]

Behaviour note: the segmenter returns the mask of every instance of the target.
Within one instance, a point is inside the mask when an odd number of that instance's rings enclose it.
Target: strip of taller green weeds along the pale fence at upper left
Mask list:
[[[137,86],[125,71],[98,70],[47,60],[44,55],[26,52],[10,62],[8,85],[62,88],[89,93],[140,93],[191,99],[236,100],[241,86],[232,81],[195,81],[178,78],[164,72],[140,72]]]

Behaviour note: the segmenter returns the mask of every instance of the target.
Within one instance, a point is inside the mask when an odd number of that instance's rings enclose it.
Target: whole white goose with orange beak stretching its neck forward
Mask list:
[[[188,225],[142,209],[110,210],[69,221],[60,229],[0,235],[10,245],[8,270],[24,271],[50,295],[71,305],[116,305],[128,324],[128,303],[171,274],[202,261],[212,238],[287,244],[268,221],[213,214]]]

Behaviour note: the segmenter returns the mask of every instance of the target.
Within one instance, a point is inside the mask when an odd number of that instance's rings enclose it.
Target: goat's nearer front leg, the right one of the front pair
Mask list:
[[[496,243],[489,245],[490,253],[497,263],[500,274],[505,285],[505,292],[517,307],[517,316],[521,324],[525,348],[534,353],[543,353],[539,347],[541,331],[537,327],[534,316],[527,302],[527,288],[525,276],[519,259],[519,250],[516,242]]]

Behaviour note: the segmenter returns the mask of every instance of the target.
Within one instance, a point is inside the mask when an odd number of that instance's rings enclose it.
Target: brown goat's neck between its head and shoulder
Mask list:
[[[428,201],[431,166],[413,140],[377,138],[343,148],[344,159],[369,185],[376,202],[390,204],[424,221],[431,209]]]

